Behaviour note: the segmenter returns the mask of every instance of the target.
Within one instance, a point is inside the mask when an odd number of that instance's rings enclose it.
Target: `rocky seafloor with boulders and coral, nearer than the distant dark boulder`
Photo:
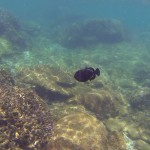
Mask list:
[[[1,150],[150,148],[150,32],[74,47],[36,23],[13,25],[0,32]],[[75,81],[88,66],[100,77]]]

